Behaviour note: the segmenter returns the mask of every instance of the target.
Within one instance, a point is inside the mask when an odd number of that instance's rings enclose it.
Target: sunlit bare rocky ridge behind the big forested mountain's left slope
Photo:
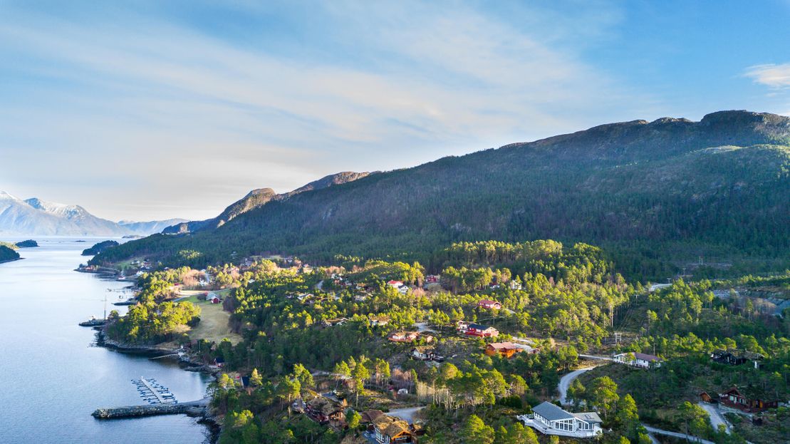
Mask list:
[[[269,203],[269,201],[283,200],[290,198],[295,194],[303,193],[304,191],[321,190],[322,188],[326,188],[328,186],[352,182],[353,180],[361,179],[369,174],[371,173],[343,171],[337,174],[325,176],[321,179],[310,182],[305,186],[301,186],[296,190],[289,191],[288,193],[284,194],[276,194],[271,188],[259,188],[258,190],[250,191],[250,193],[239,199],[239,201],[233,202],[228,206],[228,208],[220,213],[219,216],[207,220],[194,220],[190,222],[183,222],[181,224],[175,224],[171,227],[165,228],[163,232],[166,234],[176,234],[213,230],[215,228],[220,228],[222,225],[232,220],[236,216],[242,215],[251,209],[256,209],[262,205],[265,205]]]

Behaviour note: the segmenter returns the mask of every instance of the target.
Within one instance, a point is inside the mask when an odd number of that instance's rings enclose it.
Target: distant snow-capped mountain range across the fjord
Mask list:
[[[80,205],[58,204],[39,198],[22,200],[0,191],[0,235],[151,235],[183,221],[113,222],[93,216]]]

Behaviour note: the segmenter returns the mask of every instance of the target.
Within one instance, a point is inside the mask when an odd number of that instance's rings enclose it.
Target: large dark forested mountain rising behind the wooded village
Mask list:
[[[631,271],[660,274],[658,262],[678,255],[780,257],[790,248],[788,171],[784,116],[614,123],[303,192],[214,231],[154,235],[94,262],[167,262],[194,250],[197,262],[269,251],[403,254],[430,266],[455,241],[558,239],[641,258]]]

